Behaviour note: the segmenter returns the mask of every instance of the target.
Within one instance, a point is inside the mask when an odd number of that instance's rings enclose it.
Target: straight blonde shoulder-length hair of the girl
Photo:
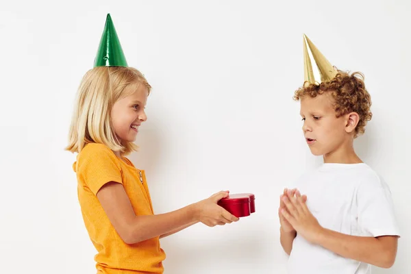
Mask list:
[[[65,150],[82,151],[90,142],[107,145],[112,151],[127,155],[138,147],[133,142],[121,142],[114,134],[111,110],[119,99],[129,95],[130,85],[151,86],[137,69],[122,66],[97,66],[84,75],[77,91],[75,109],[69,132],[69,145]],[[126,90],[129,90],[128,92]]]

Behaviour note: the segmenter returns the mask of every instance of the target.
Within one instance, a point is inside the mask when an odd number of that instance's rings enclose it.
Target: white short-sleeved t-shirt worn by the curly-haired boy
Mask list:
[[[323,164],[297,180],[320,225],[353,236],[399,236],[390,189],[370,166]],[[370,274],[371,265],[343,258],[297,234],[289,274]]]

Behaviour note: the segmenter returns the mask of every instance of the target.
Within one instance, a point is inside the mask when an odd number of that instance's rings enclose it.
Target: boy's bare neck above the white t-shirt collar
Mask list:
[[[362,160],[356,154],[353,147],[353,140],[344,142],[335,151],[323,155],[324,163],[336,164],[358,164]]]

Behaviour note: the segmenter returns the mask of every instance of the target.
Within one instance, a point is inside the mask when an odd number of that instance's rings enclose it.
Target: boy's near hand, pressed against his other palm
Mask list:
[[[286,208],[282,209],[282,216],[298,234],[315,244],[323,227],[308,210],[306,199],[306,195],[301,196],[299,192],[295,197],[283,196],[282,201]]]

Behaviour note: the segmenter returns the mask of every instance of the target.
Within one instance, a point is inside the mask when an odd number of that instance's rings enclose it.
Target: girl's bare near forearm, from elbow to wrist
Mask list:
[[[132,244],[157,236],[171,235],[171,232],[175,233],[197,223],[196,217],[194,205],[164,214],[136,216],[129,224],[126,242]]]

